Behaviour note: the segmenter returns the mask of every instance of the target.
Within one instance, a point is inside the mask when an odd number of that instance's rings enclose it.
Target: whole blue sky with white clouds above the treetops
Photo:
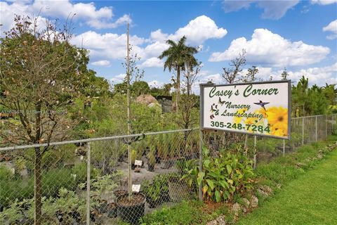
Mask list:
[[[157,56],[166,39],[187,36],[200,47],[203,63],[199,82],[223,83],[221,72],[241,49],[247,65],[256,65],[260,79],[280,79],[285,67],[290,79],[305,75],[310,84],[337,83],[336,0],[311,1],[1,1],[1,30],[14,13],[65,20],[74,15],[72,43],[90,50],[89,67],[114,84],[125,75],[126,23],[131,23],[133,51],[141,57],[145,81],[169,83]],[[42,22],[41,22],[42,23]]]

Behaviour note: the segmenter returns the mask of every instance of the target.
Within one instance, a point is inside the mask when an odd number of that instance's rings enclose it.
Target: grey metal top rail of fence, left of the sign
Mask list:
[[[194,131],[199,129],[199,127],[191,128],[191,129],[175,129],[171,131],[157,131],[157,132],[148,132],[143,134],[130,134],[130,135],[119,135],[119,136],[106,136],[101,138],[93,138],[93,139],[79,139],[79,140],[71,140],[71,141],[55,141],[51,143],[37,143],[32,145],[25,145],[25,146],[11,146],[11,147],[4,147],[0,148],[0,151],[6,150],[19,150],[25,148],[39,148],[39,147],[46,147],[46,146],[62,146],[68,143],[87,143],[93,141],[108,141],[113,139],[126,139],[126,138],[133,138],[137,136],[150,136],[156,134],[170,134],[170,133],[177,133],[177,132],[184,132],[184,131]]]

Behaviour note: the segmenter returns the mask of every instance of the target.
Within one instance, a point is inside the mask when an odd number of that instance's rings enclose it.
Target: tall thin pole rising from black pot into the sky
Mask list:
[[[129,56],[129,44],[128,44],[128,32],[126,37],[126,95],[128,104],[128,135],[131,134],[131,104],[130,104],[130,56]],[[128,198],[130,199],[132,195],[132,176],[131,176],[131,145],[128,143]]]

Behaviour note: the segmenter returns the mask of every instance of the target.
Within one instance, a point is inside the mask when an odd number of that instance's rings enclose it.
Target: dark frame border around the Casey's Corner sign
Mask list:
[[[288,136],[274,136],[274,135],[267,135],[267,134],[254,134],[246,131],[229,131],[225,129],[215,129],[215,128],[205,128],[204,127],[204,88],[209,86],[239,86],[239,85],[249,85],[249,84],[275,84],[275,83],[288,83]],[[275,80],[275,81],[265,81],[265,82],[244,82],[244,83],[234,83],[234,84],[214,84],[214,83],[206,83],[206,84],[199,84],[200,86],[200,129],[201,131],[207,130],[214,130],[214,131],[226,131],[231,133],[239,133],[239,134],[249,134],[252,136],[264,136],[273,139],[284,139],[290,140],[291,136],[291,79],[282,79],[282,80]]]

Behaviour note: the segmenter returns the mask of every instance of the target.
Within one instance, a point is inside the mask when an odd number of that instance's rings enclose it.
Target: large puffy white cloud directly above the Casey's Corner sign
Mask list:
[[[242,49],[246,49],[246,59],[251,64],[282,68],[318,63],[330,53],[330,49],[324,46],[313,46],[303,41],[291,42],[269,30],[256,29],[251,40],[244,37],[234,39],[224,52],[212,53],[209,61],[232,60]]]

